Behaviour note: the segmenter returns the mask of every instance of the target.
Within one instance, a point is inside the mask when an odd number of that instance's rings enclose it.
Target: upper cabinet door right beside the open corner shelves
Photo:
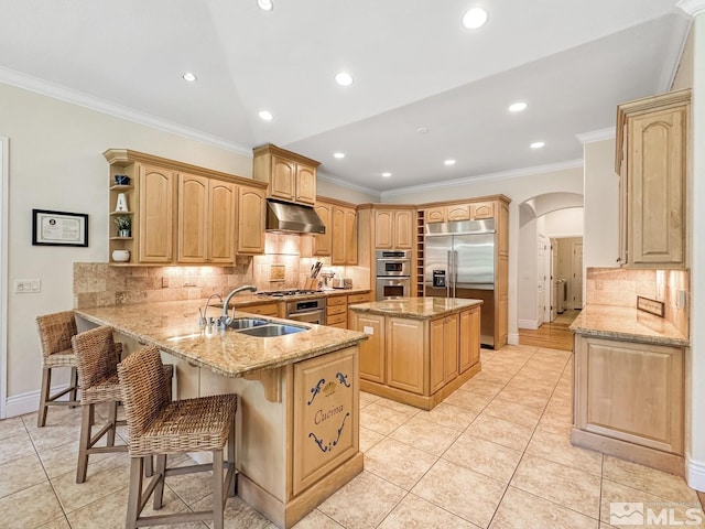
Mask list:
[[[172,262],[176,177],[167,169],[140,165],[140,262]]]

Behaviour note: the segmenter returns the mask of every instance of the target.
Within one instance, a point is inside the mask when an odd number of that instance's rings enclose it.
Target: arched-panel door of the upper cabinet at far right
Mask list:
[[[628,127],[629,262],[684,262],[686,109],[650,112]]]

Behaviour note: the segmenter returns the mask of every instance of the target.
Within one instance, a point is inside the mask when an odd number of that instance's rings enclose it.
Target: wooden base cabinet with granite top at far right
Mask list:
[[[687,337],[631,306],[587,305],[571,331],[572,444],[682,476]]]

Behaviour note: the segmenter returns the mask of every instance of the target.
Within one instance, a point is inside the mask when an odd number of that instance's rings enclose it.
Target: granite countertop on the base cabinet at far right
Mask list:
[[[688,345],[687,337],[673,324],[630,306],[587,305],[571,325],[571,331],[657,345]]]

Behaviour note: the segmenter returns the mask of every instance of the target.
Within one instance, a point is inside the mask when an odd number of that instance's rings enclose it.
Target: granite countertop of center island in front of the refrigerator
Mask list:
[[[372,301],[349,305],[355,312],[411,317],[414,320],[432,320],[469,306],[480,305],[482,300],[460,298],[403,298],[400,300]]]

